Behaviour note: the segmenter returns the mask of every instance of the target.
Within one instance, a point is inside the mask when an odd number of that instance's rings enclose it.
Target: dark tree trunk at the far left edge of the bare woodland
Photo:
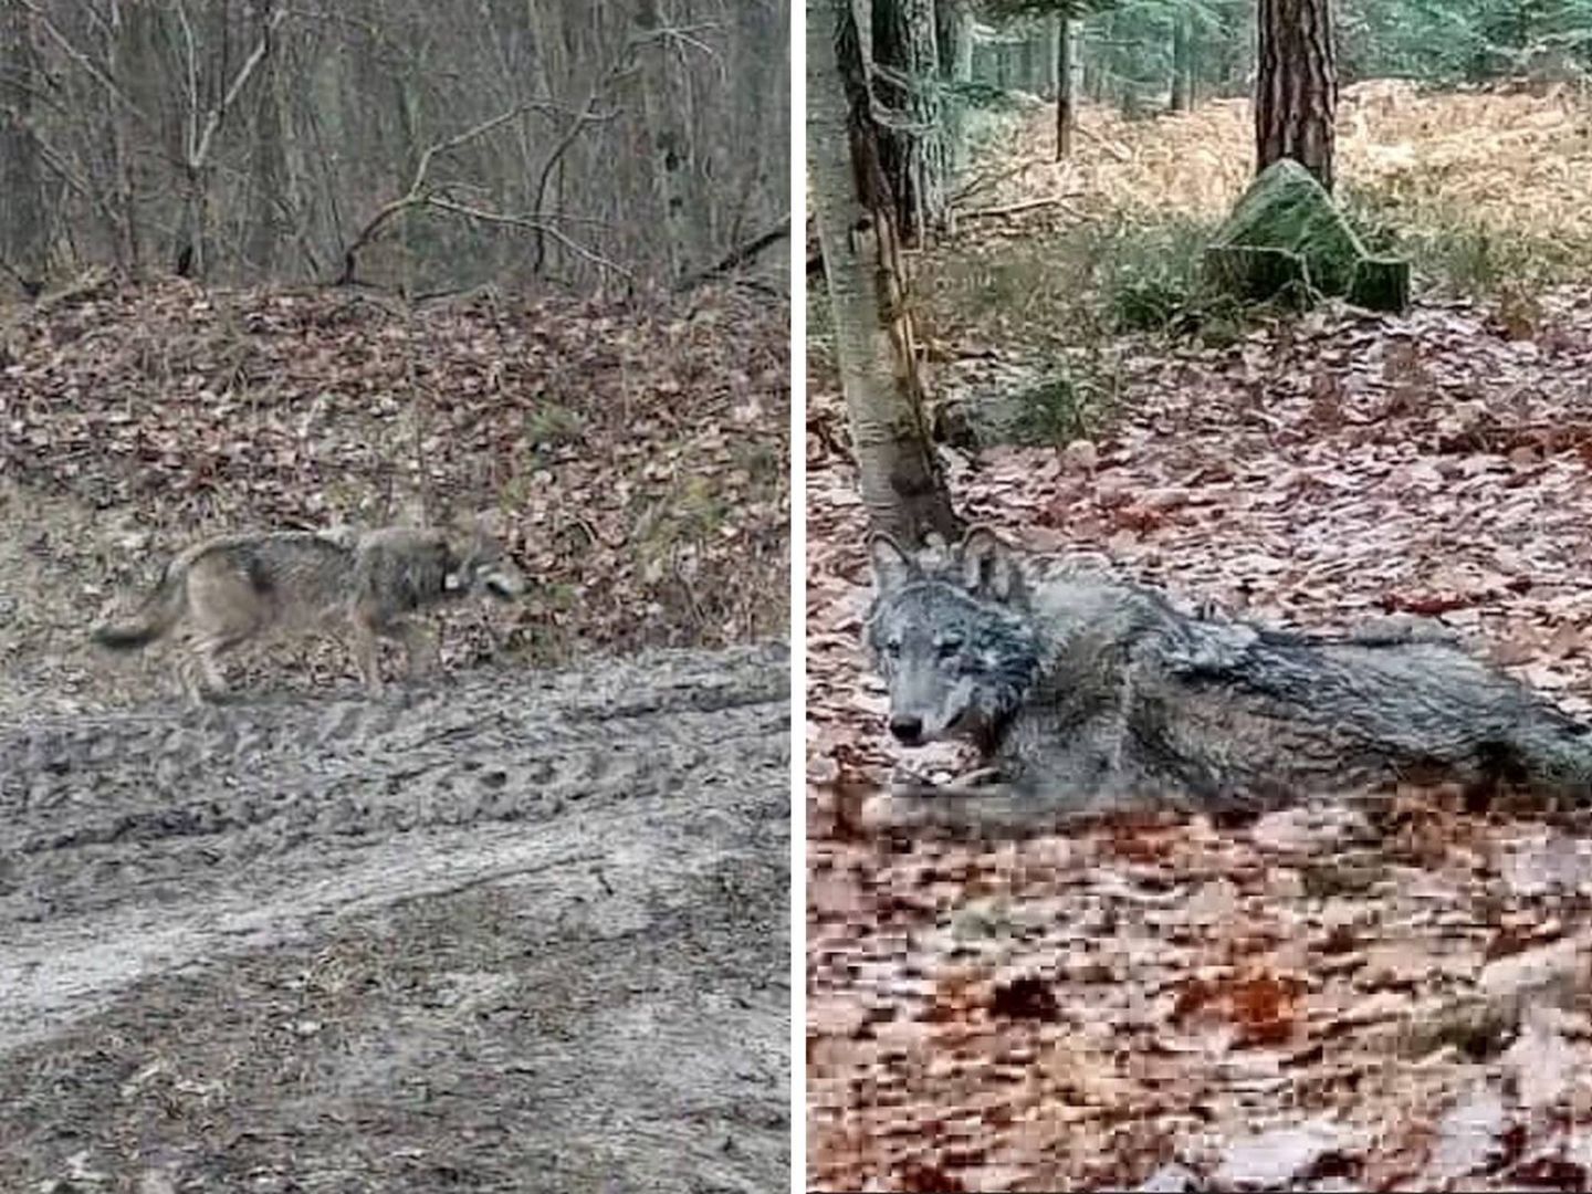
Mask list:
[[[0,0],[0,263],[25,290],[49,272],[49,204],[32,127],[38,88],[33,30],[21,0]]]

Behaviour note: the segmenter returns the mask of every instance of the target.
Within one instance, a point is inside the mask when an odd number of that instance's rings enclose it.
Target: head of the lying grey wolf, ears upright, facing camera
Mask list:
[[[890,732],[909,747],[992,742],[1040,670],[1020,562],[982,529],[915,554],[876,535],[869,556],[864,637],[890,686]]]

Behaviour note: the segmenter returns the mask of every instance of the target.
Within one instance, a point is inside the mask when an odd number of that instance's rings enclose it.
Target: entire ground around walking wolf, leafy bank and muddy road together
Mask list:
[[[696,302],[6,312],[0,1189],[785,1181],[788,320]],[[194,538],[454,516],[532,591],[444,680],[86,645]]]

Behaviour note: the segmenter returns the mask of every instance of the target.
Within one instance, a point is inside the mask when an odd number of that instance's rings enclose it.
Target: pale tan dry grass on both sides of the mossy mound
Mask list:
[[[997,126],[998,127],[998,126]],[[1592,280],[1592,100],[1571,89],[1420,92],[1377,80],[1339,108],[1339,197],[1377,252],[1415,266],[1422,295],[1517,302]],[[1054,358],[1116,333],[1243,334],[1251,314],[1204,287],[1210,232],[1251,180],[1247,100],[1124,119],[1089,107],[1078,153],[1051,161],[1052,116],[1006,118],[979,154],[974,218],[919,261],[930,336]]]

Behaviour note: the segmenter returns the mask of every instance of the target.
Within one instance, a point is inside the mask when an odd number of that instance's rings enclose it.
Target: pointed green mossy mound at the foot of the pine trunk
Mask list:
[[[1409,306],[1409,263],[1366,252],[1321,183],[1291,158],[1267,166],[1205,250],[1212,283],[1243,299],[1347,298],[1372,310]]]

